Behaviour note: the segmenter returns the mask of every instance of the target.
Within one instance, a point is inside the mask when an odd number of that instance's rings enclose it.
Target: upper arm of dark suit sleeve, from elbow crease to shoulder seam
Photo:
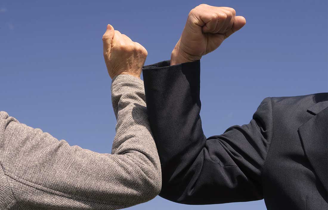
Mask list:
[[[263,199],[261,171],[271,142],[271,113],[270,98],[267,98],[249,124],[232,126],[222,135],[207,138],[195,159],[188,157],[190,165],[186,164],[180,174],[173,174],[165,183],[177,185],[176,188],[162,190],[160,195],[186,204]],[[180,179],[186,181],[179,183]],[[172,190],[179,193],[171,197]]]

